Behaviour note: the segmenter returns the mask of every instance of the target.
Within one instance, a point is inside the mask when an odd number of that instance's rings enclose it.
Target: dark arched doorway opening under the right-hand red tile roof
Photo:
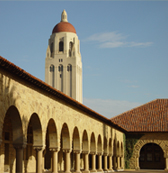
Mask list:
[[[139,158],[140,169],[164,169],[165,159],[162,148],[148,143],[141,148]]]

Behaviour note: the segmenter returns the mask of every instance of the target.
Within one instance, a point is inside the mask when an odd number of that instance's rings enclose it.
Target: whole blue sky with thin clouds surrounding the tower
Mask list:
[[[168,1],[0,1],[0,55],[44,80],[63,9],[80,40],[86,106],[110,118],[168,98]]]

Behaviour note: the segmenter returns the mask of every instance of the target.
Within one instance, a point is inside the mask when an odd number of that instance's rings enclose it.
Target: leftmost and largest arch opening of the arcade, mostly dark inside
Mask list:
[[[20,156],[23,157],[23,145],[25,139],[23,138],[23,128],[20,113],[14,105],[10,106],[6,111],[3,121],[2,139],[4,148],[4,167],[1,170],[3,170],[3,172],[13,170],[15,164],[15,171],[18,171],[20,169],[20,167],[18,168],[18,165],[22,164],[22,162],[19,162],[18,160],[17,151],[18,148],[20,148],[20,151],[22,152],[22,154],[20,152]],[[16,151],[14,151],[14,148]],[[16,153],[16,155],[11,155],[12,152]]]

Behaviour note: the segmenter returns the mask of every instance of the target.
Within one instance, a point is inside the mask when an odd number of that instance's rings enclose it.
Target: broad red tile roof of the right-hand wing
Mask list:
[[[111,118],[129,132],[168,132],[168,99],[156,99]]]

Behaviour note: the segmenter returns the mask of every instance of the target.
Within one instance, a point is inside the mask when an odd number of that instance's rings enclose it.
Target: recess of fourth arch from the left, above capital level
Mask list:
[[[70,134],[66,123],[64,123],[62,126],[61,139],[62,149],[70,150]]]

